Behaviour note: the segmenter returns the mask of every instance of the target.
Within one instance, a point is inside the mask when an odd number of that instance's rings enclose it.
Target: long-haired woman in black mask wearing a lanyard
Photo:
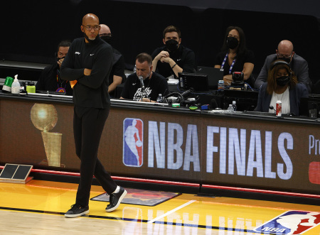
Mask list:
[[[252,70],[255,56],[245,45],[245,33],[242,28],[229,26],[221,52],[215,58],[215,68],[223,69],[223,80],[226,86],[233,81],[233,72],[243,72],[245,82],[253,86]]]

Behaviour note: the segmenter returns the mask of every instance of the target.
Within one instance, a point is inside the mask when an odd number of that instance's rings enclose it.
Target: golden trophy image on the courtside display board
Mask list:
[[[48,132],[58,121],[58,114],[52,104],[34,104],[31,108],[31,121],[41,131],[48,165],[60,167],[62,133]]]

